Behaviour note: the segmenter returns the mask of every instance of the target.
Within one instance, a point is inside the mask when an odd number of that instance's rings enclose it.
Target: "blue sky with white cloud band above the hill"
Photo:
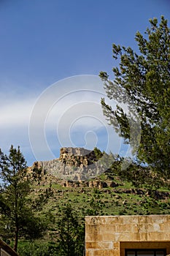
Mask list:
[[[101,117],[97,76],[112,77],[113,42],[136,49],[136,31],[161,15],[169,20],[168,0],[1,0],[1,150],[20,145],[28,165],[61,146],[125,150]]]

